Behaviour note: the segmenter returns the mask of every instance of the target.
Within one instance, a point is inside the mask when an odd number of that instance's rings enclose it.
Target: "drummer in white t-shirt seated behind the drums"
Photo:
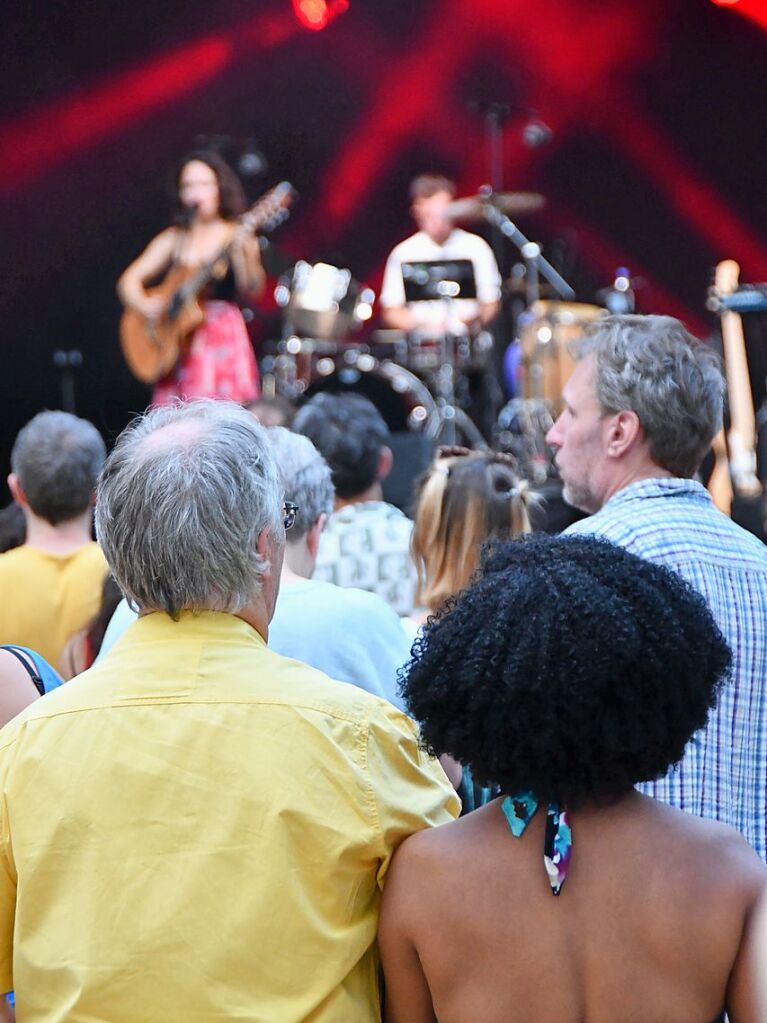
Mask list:
[[[380,292],[385,326],[431,337],[473,337],[497,314],[501,278],[495,257],[484,238],[453,225],[450,204],[454,197],[454,182],[441,174],[419,174],[411,182],[410,214],[418,230],[396,246],[387,260]],[[477,298],[408,303],[402,264],[443,259],[471,261]]]

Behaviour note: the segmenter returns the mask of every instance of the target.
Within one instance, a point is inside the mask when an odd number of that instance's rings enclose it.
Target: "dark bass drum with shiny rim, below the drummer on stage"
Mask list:
[[[319,359],[317,379],[306,398],[322,392],[363,395],[375,405],[392,433],[410,431],[434,437],[439,428],[437,406],[426,386],[396,362],[379,362],[365,352],[347,351]]]

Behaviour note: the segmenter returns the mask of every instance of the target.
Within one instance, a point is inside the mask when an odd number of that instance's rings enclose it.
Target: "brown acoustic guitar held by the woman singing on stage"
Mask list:
[[[196,270],[172,266],[163,283],[148,293],[166,300],[156,319],[125,309],[120,320],[120,344],[128,368],[137,380],[155,384],[183,358],[205,317],[199,294],[214,277],[226,273],[235,238],[276,226],[287,216],[295,196],[288,182],[275,185],[238,218],[232,236],[212,260]]]

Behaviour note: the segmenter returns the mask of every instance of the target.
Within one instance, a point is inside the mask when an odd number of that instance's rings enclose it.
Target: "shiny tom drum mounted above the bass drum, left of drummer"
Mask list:
[[[341,341],[357,330],[372,316],[375,299],[351,271],[304,260],[280,277],[274,297],[284,309],[285,335],[324,341]]]

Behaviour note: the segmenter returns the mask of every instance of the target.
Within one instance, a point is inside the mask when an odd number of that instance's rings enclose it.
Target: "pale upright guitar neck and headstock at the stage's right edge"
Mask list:
[[[734,260],[724,260],[717,265],[714,290],[720,299],[737,290],[739,274],[740,267]],[[726,302],[721,302],[719,308],[730,413],[727,431],[730,476],[736,496],[758,497],[762,484],[757,476],[756,414],[742,320],[738,313],[727,308]]]

